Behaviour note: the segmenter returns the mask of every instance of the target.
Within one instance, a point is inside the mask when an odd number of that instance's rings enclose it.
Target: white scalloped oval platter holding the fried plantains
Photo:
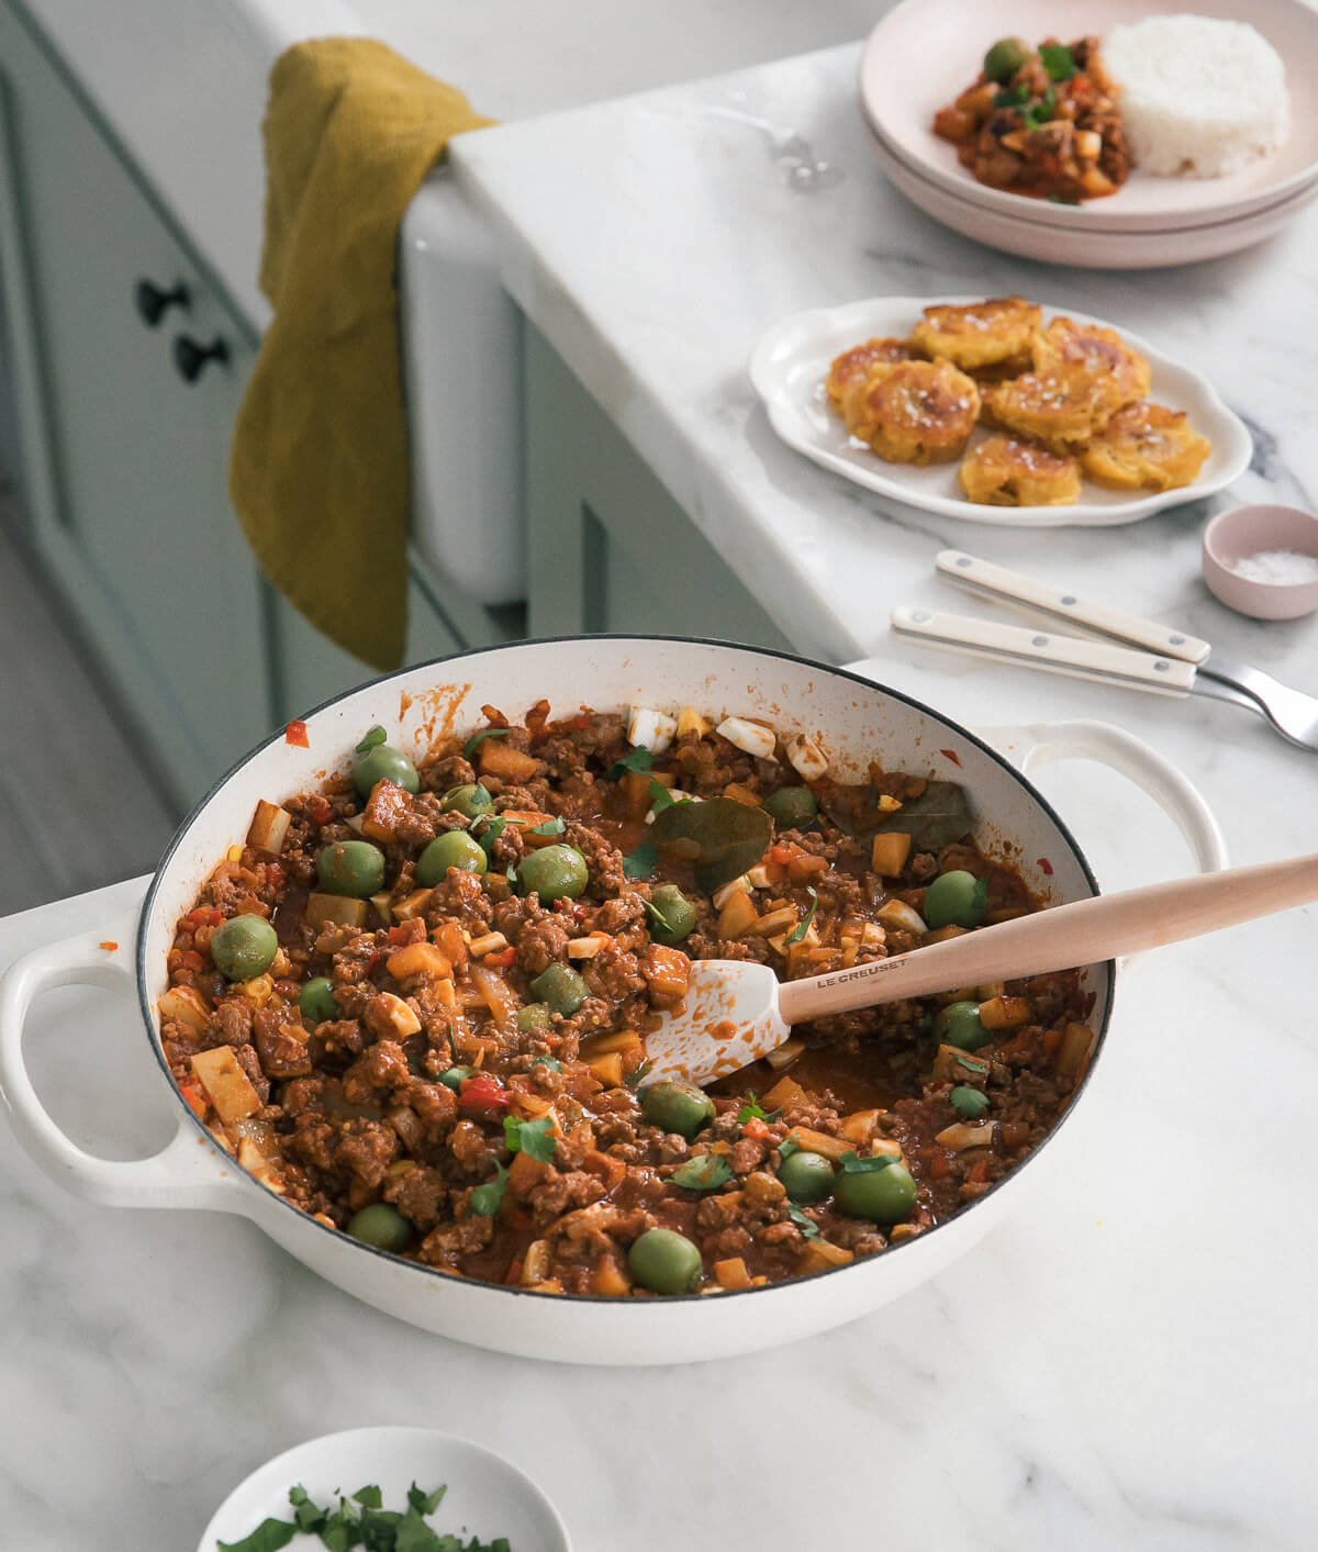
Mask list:
[[[1212,442],[1212,453],[1194,484],[1175,490],[1130,495],[1104,490],[1085,481],[1076,506],[980,506],[961,495],[956,480],[959,459],[949,464],[890,464],[852,438],[829,408],[824,391],[829,363],[841,351],[871,337],[905,338],[924,307],[983,301],[983,296],[871,296],[840,307],[817,307],[793,314],[768,329],[750,359],[750,379],[764,400],[773,430],[798,453],[854,484],[907,506],[970,523],[1000,528],[1105,528],[1135,523],[1143,517],[1195,501],[1231,484],[1248,469],[1253,444],[1239,416],[1219,399],[1206,377],[1169,360],[1129,329],[1071,307],[1043,306],[1043,321],[1059,314],[1077,323],[1116,327],[1144,355],[1153,382],[1149,397],[1172,410],[1184,410],[1191,424]],[[970,438],[987,436],[976,428]]]

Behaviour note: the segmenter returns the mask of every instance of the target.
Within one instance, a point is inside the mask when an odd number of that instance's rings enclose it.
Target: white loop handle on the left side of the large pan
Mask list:
[[[186,1116],[146,1159],[101,1159],[70,1141],[37,1097],[23,1063],[23,1024],[42,992],[57,986],[135,987],[137,908],[104,927],[34,948],[0,978],[0,1102],[31,1161],[75,1197],[112,1207],[241,1211],[238,1169]]]

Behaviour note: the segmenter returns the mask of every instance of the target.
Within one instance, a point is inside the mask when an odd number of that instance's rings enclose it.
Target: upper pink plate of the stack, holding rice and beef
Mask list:
[[[1292,127],[1285,144],[1222,178],[1157,178],[1138,169],[1113,196],[1053,205],[978,183],[956,149],[933,133],[933,115],[975,79],[998,37],[1020,34],[1070,42],[1146,16],[1180,14],[1248,20],[1285,61]],[[1318,12],[1302,0],[904,0],[869,34],[860,64],[865,116],[885,147],[911,172],[978,208],[1032,223],[1084,231],[1180,231],[1220,223],[1295,197],[1318,178]],[[1206,256],[1206,255],[1200,255]],[[1067,261],[1071,262],[1071,261]],[[1184,261],[1177,261],[1184,262]]]

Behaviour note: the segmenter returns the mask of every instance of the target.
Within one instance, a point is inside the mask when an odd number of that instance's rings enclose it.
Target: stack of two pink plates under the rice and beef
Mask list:
[[[1107,36],[1146,16],[1250,22],[1285,61],[1285,143],[1220,178],[1141,174],[1105,199],[1056,205],[980,183],[933,133],[939,107],[976,78],[1000,37]],[[1318,12],[1304,0],[904,0],[874,28],[860,64],[860,101],[874,158],[927,216],[1006,253],[1048,264],[1133,270],[1237,253],[1279,231],[1318,196]]]

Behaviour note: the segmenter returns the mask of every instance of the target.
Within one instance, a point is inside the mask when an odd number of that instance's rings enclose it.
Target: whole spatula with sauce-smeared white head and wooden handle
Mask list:
[[[682,1012],[646,1035],[643,1085],[713,1083],[767,1055],[793,1024],[855,1007],[1101,964],[1318,900],[1318,854],[1228,868],[1057,905],[893,959],[781,982],[768,965],[699,959]]]

